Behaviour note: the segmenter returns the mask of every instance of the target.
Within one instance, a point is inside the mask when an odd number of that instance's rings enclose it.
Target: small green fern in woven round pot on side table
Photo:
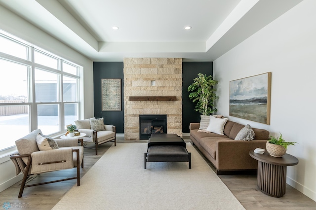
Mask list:
[[[270,140],[266,143],[266,149],[271,156],[282,157],[286,153],[287,146],[295,145],[295,143],[297,142],[285,141],[280,133],[280,137],[277,138],[270,136]]]

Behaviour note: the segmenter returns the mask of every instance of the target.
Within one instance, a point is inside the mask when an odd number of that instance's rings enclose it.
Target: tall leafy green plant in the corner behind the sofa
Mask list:
[[[202,115],[210,115],[214,111],[217,111],[213,106],[213,102],[218,97],[215,92],[214,86],[218,83],[217,80],[212,78],[212,75],[206,76],[206,74],[198,73],[198,77],[194,79],[194,83],[188,87],[188,91],[191,91],[189,98],[197,103],[195,111],[198,111]]]

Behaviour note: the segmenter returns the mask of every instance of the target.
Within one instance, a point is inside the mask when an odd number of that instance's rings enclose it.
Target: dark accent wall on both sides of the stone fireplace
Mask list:
[[[188,87],[198,73],[213,75],[213,62],[183,62],[182,63],[182,131],[189,133],[191,122],[199,122],[200,114],[195,109],[195,104],[189,99]],[[102,111],[101,107],[101,79],[121,79],[121,111]],[[104,123],[115,125],[117,133],[124,133],[124,100],[123,100],[123,62],[93,62],[94,83],[94,116],[104,117]]]

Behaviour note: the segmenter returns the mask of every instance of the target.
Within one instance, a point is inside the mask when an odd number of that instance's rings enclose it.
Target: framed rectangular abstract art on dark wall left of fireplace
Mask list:
[[[121,79],[101,79],[102,111],[120,111]]]

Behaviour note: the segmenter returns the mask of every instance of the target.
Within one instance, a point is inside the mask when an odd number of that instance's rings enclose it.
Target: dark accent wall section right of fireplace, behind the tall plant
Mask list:
[[[198,73],[213,75],[213,62],[182,63],[182,132],[190,133],[191,122],[200,121],[200,113],[194,111],[195,104],[189,99],[188,87]]]

